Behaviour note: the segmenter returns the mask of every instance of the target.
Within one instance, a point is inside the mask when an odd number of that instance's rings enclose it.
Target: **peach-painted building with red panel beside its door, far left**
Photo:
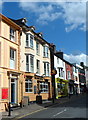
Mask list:
[[[0,106],[19,103],[21,28],[0,14]]]

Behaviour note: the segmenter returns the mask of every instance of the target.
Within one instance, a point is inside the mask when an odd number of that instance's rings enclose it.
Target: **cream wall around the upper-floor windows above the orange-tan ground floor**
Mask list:
[[[27,33],[30,33],[27,32]],[[32,34],[32,33],[31,33]],[[37,55],[36,54],[36,41],[33,41],[34,44],[34,48],[25,48],[25,43],[26,43],[26,34],[24,32],[22,32],[22,36],[21,36],[21,71],[26,71],[26,56],[25,54],[32,54],[34,55],[34,73],[36,73],[36,60],[40,60],[40,75],[44,74],[44,64],[43,62],[49,62],[50,63],[50,51],[49,51],[49,58],[43,58],[43,46],[42,44],[40,45],[40,54]],[[51,71],[50,71],[51,73]]]

